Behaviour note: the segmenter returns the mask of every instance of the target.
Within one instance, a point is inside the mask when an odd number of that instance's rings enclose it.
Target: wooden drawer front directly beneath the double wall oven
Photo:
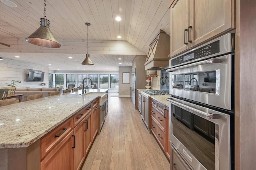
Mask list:
[[[171,170],[191,170],[191,168],[186,164],[186,162],[180,157],[178,152],[176,152],[173,147],[171,152]]]

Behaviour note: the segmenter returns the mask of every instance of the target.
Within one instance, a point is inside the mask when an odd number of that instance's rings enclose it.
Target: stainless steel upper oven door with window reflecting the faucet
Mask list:
[[[170,69],[170,94],[231,110],[232,55],[213,60]]]

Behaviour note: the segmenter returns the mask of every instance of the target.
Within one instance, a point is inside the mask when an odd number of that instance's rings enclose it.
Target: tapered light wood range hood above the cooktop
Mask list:
[[[145,70],[162,70],[169,66],[170,36],[160,30],[156,38],[150,43]]]

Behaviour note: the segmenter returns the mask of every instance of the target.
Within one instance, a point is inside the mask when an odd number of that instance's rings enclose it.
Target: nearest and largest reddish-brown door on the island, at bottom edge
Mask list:
[[[41,170],[73,170],[74,169],[74,136],[73,131],[42,160]]]

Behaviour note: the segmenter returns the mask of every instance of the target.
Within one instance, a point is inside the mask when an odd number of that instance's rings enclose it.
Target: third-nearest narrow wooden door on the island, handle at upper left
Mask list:
[[[89,114],[84,119],[84,149],[86,154],[88,153],[90,146],[92,144],[91,138],[91,114]]]

